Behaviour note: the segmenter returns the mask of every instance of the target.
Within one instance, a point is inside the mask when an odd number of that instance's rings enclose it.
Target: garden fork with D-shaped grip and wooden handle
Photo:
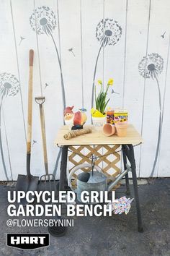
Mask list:
[[[42,135],[42,148],[44,155],[44,165],[45,165],[45,174],[40,177],[40,182],[45,182],[45,189],[47,189],[47,181],[50,185],[50,192],[55,191],[56,195],[56,183],[55,176],[53,174],[49,174],[48,172],[48,155],[47,155],[47,143],[46,143],[46,132],[45,132],[45,114],[43,103],[45,102],[45,97],[35,97],[36,103],[39,104],[40,107],[40,122],[41,122],[41,135]],[[53,185],[53,187],[52,187]]]

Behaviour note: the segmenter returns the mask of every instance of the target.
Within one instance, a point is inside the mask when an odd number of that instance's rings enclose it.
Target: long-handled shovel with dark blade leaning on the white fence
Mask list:
[[[32,176],[30,172],[31,159],[31,138],[32,138],[32,71],[33,71],[34,51],[30,50],[29,65],[29,85],[28,85],[28,116],[27,116],[27,175],[18,175],[16,190],[17,191],[35,191],[37,190],[38,176]],[[26,205],[25,199],[20,202]]]

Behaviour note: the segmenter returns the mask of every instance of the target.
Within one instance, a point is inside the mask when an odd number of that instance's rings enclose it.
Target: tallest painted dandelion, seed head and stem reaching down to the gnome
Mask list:
[[[58,64],[61,72],[61,88],[63,94],[63,109],[66,108],[66,95],[65,88],[63,82],[63,72],[61,67],[61,59],[58,53],[58,48],[56,46],[55,40],[53,38],[53,30],[57,26],[57,20],[55,17],[55,13],[49,7],[37,7],[30,17],[30,25],[32,30],[34,30],[37,35],[49,35],[53,40],[55,51],[58,57]]]

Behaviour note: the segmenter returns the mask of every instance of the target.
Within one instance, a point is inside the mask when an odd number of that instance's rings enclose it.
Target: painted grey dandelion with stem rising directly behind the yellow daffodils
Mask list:
[[[94,77],[93,77],[92,95],[91,95],[91,108],[93,107],[93,103],[94,103],[94,82],[96,78],[99,54],[102,48],[106,46],[115,46],[115,44],[120,40],[121,35],[122,35],[122,27],[120,27],[118,22],[113,19],[106,18],[105,20],[101,20],[97,25],[96,38],[100,43],[100,47],[99,47],[97,60],[94,67]]]

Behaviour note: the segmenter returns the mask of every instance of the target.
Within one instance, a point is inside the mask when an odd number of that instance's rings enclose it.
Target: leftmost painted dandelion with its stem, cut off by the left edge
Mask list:
[[[6,179],[9,180],[7,170],[6,170],[6,164],[4,161],[4,150],[1,140],[1,114],[2,114],[2,105],[4,102],[4,98],[7,96],[15,96],[19,92],[19,81],[14,76],[14,74],[9,73],[1,73],[0,74],[0,94],[1,94],[1,103],[0,103],[0,152],[1,152],[1,161],[4,168],[4,173],[6,176]]]

